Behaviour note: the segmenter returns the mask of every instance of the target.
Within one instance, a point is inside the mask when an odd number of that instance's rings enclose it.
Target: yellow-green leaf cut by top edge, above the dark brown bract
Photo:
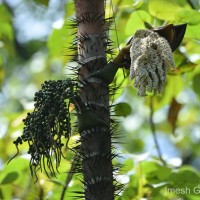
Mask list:
[[[175,20],[175,13],[180,11],[180,5],[174,0],[150,0],[149,12],[162,20]]]

